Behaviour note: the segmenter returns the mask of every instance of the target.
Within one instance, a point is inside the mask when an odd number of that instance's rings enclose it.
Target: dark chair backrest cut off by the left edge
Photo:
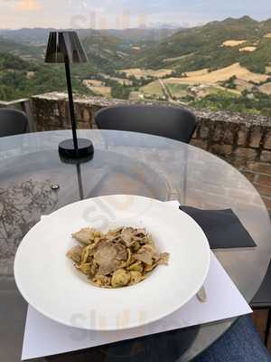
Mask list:
[[[0,137],[24,133],[27,125],[27,117],[22,111],[0,108]]]

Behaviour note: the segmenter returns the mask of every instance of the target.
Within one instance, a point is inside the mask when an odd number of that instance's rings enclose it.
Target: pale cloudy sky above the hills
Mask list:
[[[271,0],[0,0],[0,28],[194,26],[226,17],[271,17]]]

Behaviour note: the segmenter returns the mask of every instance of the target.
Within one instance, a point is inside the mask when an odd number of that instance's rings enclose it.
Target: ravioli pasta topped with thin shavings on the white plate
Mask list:
[[[167,264],[168,252],[158,252],[145,229],[119,227],[101,233],[87,227],[72,237],[79,242],[67,253],[89,281],[102,288],[119,288],[143,281],[157,265]]]

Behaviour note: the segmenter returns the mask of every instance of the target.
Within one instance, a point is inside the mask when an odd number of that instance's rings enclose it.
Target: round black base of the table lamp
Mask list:
[[[84,158],[93,154],[93,144],[89,139],[78,138],[78,149],[74,148],[73,139],[65,139],[59,145],[59,153],[63,158]]]

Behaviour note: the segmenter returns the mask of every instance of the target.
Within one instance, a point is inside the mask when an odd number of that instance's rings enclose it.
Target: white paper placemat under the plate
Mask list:
[[[178,202],[171,203],[175,207],[179,206]],[[66,327],[43,317],[29,306],[24,330],[22,360],[97,347],[120,340],[238,317],[252,312],[247,301],[230,280],[213,252],[211,252],[210,271],[204,288],[207,294],[205,302],[194,297],[180,310],[164,319],[145,327],[117,332],[98,332]]]

